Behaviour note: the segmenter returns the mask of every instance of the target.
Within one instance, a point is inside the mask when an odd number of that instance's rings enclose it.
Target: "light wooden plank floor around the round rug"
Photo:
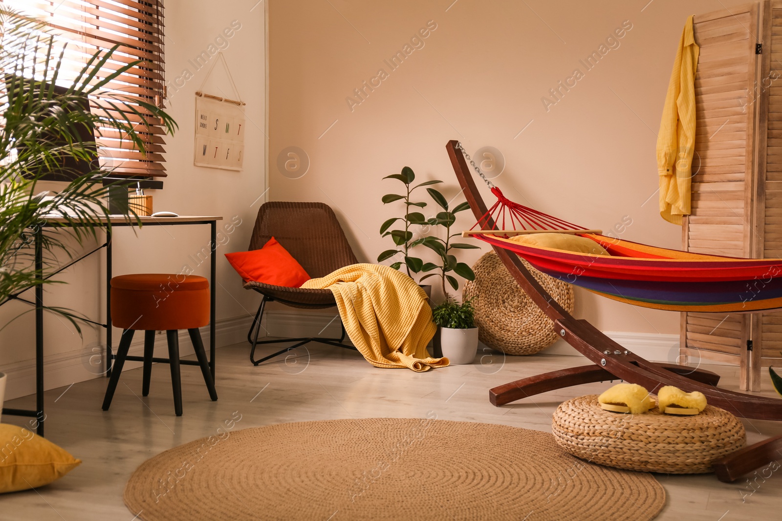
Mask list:
[[[0,496],[0,519],[131,521],[135,512],[128,512],[123,505],[122,491],[134,469],[161,451],[215,434],[217,427],[235,411],[242,415],[238,428],[317,419],[424,417],[434,411],[439,419],[501,423],[551,432],[551,413],[561,401],[599,393],[610,385],[606,382],[571,387],[497,408],[488,401],[490,387],[523,376],[584,365],[586,359],[536,355],[503,360],[502,355],[494,355],[493,359],[484,360],[492,364],[413,373],[407,369],[376,369],[353,351],[321,344],[310,344],[309,354],[304,351],[302,357],[287,363],[260,367],[247,361],[248,351],[246,345],[217,351],[220,400],[216,402],[209,400],[199,369],[182,366],[185,399],[184,416],[180,418],[174,416],[167,366],[156,365],[152,369],[148,398],[141,398],[141,369],[126,371],[109,412],[100,409],[106,379],[75,384],[67,391],[66,387],[48,391],[47,437],[84,463],[62,480],[38,491]],[[735,369],[705,367],[723,375],[723,387],[736,388]],[[770,383],[764,385],[767,388],[763,394],[773,396]],[[28,397],[6,405],[22,407],[31,403]],[[12,416],[5,416],[3,421],[23,424],[22,419]],[[782,434],[782,422],[745,420],[744,425],[749,442]],[[747,481],[723,484],[708,474],[655,476],[667,494],[665,510],[657,519],[782,519],[782,469],[769,479],[759,477],[752,487]]]

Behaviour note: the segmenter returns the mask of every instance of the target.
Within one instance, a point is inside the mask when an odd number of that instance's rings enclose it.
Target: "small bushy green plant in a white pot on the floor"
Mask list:
[[[475,308],[466,300],[459,304],[453,298],[432,310],[432,319],[439,326],[440,348],[450,363],[471,364],[478,352],[478,327]]]

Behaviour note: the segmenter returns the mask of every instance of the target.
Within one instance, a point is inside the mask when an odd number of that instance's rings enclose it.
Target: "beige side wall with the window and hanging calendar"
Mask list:
[[[217,319],[248,316],[257,305],[257,298],[242,289],[241,280],[225,261],[224,252],[246,249],[258,206],[264,202],[265,164],[265,21],[264,4],[251,12],[254,2],[224,0],[219,9],[210,0],[168,0],[166,2],[166,68],[169,84],[168,112],[179,124],[173,137],[167,137],[167,172],[162,191],[153,194],[156,210],[171,210],[181,215],[220,215],[224,222],[241,222],[232,234],[218,235],[217,250]],[[234,22],[236,20],[236,22]],[[241,24],[230,38],[223,30],[231,23]],[[231,31],[228,31],[231,33]],[[217,39],[220,38],[220,39]],[[216,41],[217,39],[217,41]],[[202,51],[223,48],[239,88],[247,118],[246,159],[244,170],[233,172],[193,166],[193,133],[195,91],[206,77],[206,67],[196,70],[188,60]],[[189,75],[185,73],[188,70]],[[192,78],[185,81],[186,77]],[[235,98],[221,64],[217,64],[204,91]],[[121,229],[115,232],[114,273],[164,272],[181,273],[185,265],[196,274],[208,277],[209,263],[194,260],[209,248],[209,227],[149,227],[142,230]],[[84,244],[75,254],[94,248]],[[63,259],[65,260],[65,259]],[[97,256],[68,269],[61,280],[70,284],[50,286],[45,294],[48,305],[63,305],[95,318],[101,316],[105,305],[103,286],[104,259]],[[0,321],[5,323],[19,312],[23,305],[11,303],[0,309]],[[254,311],[254,309],[253,309]],[[64,319],[45,317],[45,355],[52,362],[47,366],[47,387],[70,384],[75,379],[90,376],[85,369],[95,352],[100,352],[102,333],[93,327],[82,326],[84,337],[79,337]],[[9,396],[30,392],[30,366],[34,359],[34,320],[31,313],[11,323],[0,332],[0,371],[9,372]],[[114,330],[115,347],[120,330]],[[142,340],[137,335],[137,341]],[[188,342],[189,344],[189,342]],[[188,345],[183,345],[183,350]],[[92,349],[95,348],[95,352]],[[94,359],[93,359],[94,360]],[[57,369],[52,369],[52,368]],[[73,380],[67,380],[72,378]],[[20,384],[23,379],[23,385]],[[98,398],[96,398],[98,399]]]

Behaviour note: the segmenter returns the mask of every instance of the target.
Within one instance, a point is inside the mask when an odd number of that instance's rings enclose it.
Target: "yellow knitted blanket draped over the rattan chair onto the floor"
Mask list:
[[[426,294],[415,281],[380,264],[353,264],[302,287],[328,288],[350,340],[375,367],[428,371],[445,367],[426,351],[437,327]]]

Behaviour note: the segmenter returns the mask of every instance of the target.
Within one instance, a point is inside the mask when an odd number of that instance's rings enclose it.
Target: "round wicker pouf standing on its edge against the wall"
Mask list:
[[[572,313],[572,286],[522,262],[543,289]],[[472,271],[475,280],[465,284],[463,298],[472,299],[480,341],[508,355],[534,355],[557,341],[551,319],[516,283],[495,252],[478,259]]]

